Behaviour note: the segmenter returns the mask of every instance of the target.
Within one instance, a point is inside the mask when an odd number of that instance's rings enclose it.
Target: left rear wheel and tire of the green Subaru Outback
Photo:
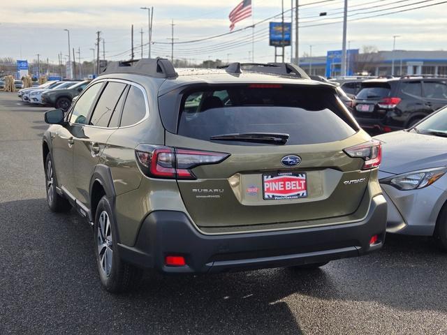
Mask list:
[[[96,265],[103,288],[108,292],[125,292],[135,288],[142,270],[123,262],[119,257],[115,217],[108,199],[103,196],[96,208],[94,248]]]

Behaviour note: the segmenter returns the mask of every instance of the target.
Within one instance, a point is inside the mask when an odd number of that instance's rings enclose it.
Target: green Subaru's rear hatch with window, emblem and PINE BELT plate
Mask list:
[[[203,87],[183,94],[166,145],[230,155],[193,168],[195,180],[178,181],[200,228],[299,226],[358,208],[369,172],[343,151],[367,140],[357,131],[328,87]],[[265,134],[288,138],[266,142]]]

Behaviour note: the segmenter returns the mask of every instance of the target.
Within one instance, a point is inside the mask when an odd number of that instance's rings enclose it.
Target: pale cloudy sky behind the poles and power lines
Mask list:
[[[96,31],[105,43],[105,58],[129,59],[131,24],[134,26],[135,57],[140,57],[140,29],[147,43],[147,10],[154,6],[152,57],[170,56],[171,22],[174,20],[174,57],[196,63],[207,59],[223,61],[274,61],[274,47],[268,45],[268,22],[234,34],[200,43],[189,40],[225,34],[230,31],[228,13],[240,0],[21,0],[2,1],[0,5],[0,57],[14,59],[49,59],[57,63],[58,54],[68,54],[67,32],[71,47],[80,49],[81,61],[93,59]],[[291,0],[284,0],[290,10]],[[446,3],[441,3],[446,2]],[[252,17],[238,22],[236,30],[278,15],[281,0],[252,0]],[[295,3],[295,0],[293,0]],[[419,6],[437,6],[408,10]],[[342,48],[343,0],[299,1],[299,52],[323,56],[328,50]],[[407,10],[393,15],[382,15]],[[325,17],[318,16],[325,12]],[[442,0],[349,0],[347,40],[351,49],[374,45],[379,50],[392,50],[393,36],[397,50],[447,50],[447,1]],[[370,18],[369,17],[375,16]],[[361,20],[358,20],[361,19]],[[290,21],[290,11],[285,20]],[[325,24],[325,25],[318,25]],[[254,57],[251,37],[254,34]],[[143,48],[147,57],[147,45]],[[103,44],[100,46],[103,57]],[[291,47],[286,47],[286,59]],[[76,53],[78,60],[78,53]]]

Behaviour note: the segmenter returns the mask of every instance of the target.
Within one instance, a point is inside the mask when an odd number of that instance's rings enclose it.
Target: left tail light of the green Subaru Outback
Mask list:
[[[177,149],[173,147],[156,147],[140,144],[135,149],[135,156],[142,172],[147,177],[165,179],[196,179],[191,169],[199,165],[217,164],[224,161],[229,154]]]

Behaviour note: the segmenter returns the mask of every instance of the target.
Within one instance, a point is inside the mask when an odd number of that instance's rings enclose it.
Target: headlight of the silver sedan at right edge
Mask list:
[[[419,170],[398,174],[397,176],[382,179],[381,184],[388,184],[402,191],[415,190],[416,188],[424,188],[430,186],[439,178],[444,176],[447,168],[432,168],[427,170]]]

